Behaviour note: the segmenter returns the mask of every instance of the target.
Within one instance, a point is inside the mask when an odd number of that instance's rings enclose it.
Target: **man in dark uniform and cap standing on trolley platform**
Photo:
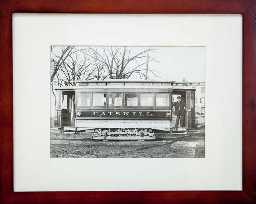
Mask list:
[[[172,104],[174,110],[174,115],[177,116],[175,130],[178,130],[178,125],[180,122],[180,127],[185,128],[185,119],[186,119],[186,103],[180,100],[180,96],[177,97],[178,101]]]

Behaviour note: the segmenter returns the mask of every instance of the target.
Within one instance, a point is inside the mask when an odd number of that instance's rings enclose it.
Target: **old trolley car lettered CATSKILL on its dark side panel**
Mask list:
[[[157,132],[195,129],[195,89],[173,86],[174,81],[76,82],[77,86],[56,88],[54,126],[60,131],[93,130],[96,140],[154,140]],[[186,128],[176,131],[174,95],[187,104]]]

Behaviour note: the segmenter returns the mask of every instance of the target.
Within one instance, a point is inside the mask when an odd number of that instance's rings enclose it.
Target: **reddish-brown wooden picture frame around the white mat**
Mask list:
[[[256,0],[2,0],[1,203],[255,203]],[[12,13],[242,13],[243,191],[13,192]]]

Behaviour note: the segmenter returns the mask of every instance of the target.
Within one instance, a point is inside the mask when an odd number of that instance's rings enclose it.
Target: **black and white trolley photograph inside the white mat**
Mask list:
[[[52,158],[204,158],[204,46],[50,52]]]

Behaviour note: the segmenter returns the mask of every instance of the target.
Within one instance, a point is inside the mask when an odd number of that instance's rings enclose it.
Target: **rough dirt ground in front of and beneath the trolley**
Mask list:
[[[156,140],[101,141],[92,133],[51,130],[51,157],[85,158],[204,158],[204,132],[156,134]],[[188,136],[188,138],[187,138]]]

